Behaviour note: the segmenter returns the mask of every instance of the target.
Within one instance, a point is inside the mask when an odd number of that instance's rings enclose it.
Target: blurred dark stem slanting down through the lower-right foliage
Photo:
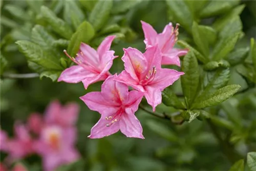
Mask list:
[[[225,141],[222,139],[221,134],[218,130],[218,128],[215,126],[214,123],[211,122],[210,119],[207,119],[208,125],[210,126],[210,129],[212,131],[212,134],[216,137],[216,139],[219,141],[219,145],[221,148],[222,153],[228,158],[228,160],[232,163],[236,162],[237,160],[243,158],[240,156],[234,149],[233,145],[229,143],[229,141]]]

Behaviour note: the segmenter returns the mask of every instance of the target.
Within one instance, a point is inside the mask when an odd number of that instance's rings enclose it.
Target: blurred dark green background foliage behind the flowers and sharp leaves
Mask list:
[[[202,9],[213,1],[215,0],[205,1]],[[83,19],[86,20],[90,14],[90,9],[84,6],[82,1],[73,2],[82,12]],[[114,1],[110,16],[105,24],[105,26],[115,24],[116,28],[110,33],[98,31],[94,41],[90,42],[91,46],[97,47],[102,37],[115,34],[118,38],[114,41],[112,49],[116,55],[121,57],[123,55],[122,48],[130,46],[143,52],[145,45],[140,20],[150,23],[158,32],[161,32],[169,22],[177,22],[176,15],[169,9],[166,1],[126,1],[126,4],[118,6],[120,2],[124,1]],[[182,5],[184,2],[186,4],[186,1],[180,2],[182,3],[177,3],[180,9],[178,12],[183,13]],[[195,3],[199,2],[202,1],[195,1]],[[245,35],[236,48],[249,47],[250,38],[256,38],[256,1],[226,0],[219,2],[219,9],[223,8],[223,4],[227,4],[228,8],[221,10],[214,16],[200,18],[200,24],[211,26],[216,18],[224,16],[230,10],[244,4],[245,7],[240,18]],[[100,91],[102,82],[95,83],[88,90],[84,90],[81,83],[53,82],[47,77],[41,79],[38,77],[29,79],[8,78],[10,73],[34,72],[28,67],[25,56],[18,51],[15,41],[30,40],[31,29],[36,24],[46,27],[55,37],[60,38],[59,35],[51,31],[51,28],[40,16],[40,7],[42,5],[49,7],[59,18],[69,23],[69,16],[77,11],[67,9],[73,7],[69,3],[70,1],[60,0],[1,1],[1,54],[5,56],[8,62],[4,70],[5,74],[0,80],[0,125],[2,129],[12,136],[15,120],[26,121],[32,112],[43,113],[49,102],[54,99],[59,99],[62,104],[74,101],[80,105],[76,146],[81,154],[81,159],[70,166],[61,167],[59,170],[228,170],[234,161],[223,153],[223,145],[219,144],[218,139],[205,121],[196,119],[191,123],[177,124],[171,120],[157,118],[138,110],[136,115],[143,126],[144,140],[126,138],[121,133],[102,139],[89,139],[87,136],[90,134],[91,127],[97,122],[100,115],[90,111],[79,97],[87,92]],[[195,13],[199,14],[200,10],[197,9]],[[189,18],[189,16],[187,17]],[[179,39],[191,42],[190,38],[187,29],[181,25]],[[60,53],[63,49],[65,47],[58,47]],[[65,58],[64,55],[61,57]],[[120,57],[114,60],[112,73],[122,71],[123,63]],[[230,82],[240,84],[242,89],[247,89],[246,81],[235,69],[231,70]],[[176,93],[181,93],[179,81],[172,88]],[[143,103],[145,102],[143,101]],[[240,130],[239,128],[229,130],[225,125],[220,125],[218,129],[227,138],[232,138],[228,145],[234,147],[241,158],[246,156],[247,152],[256,150],[255,110],[255,89],[250,89],[225,101],[216,108],[212,108],[213,113],[219,113],[227,120],[230,115],[239,116],[239,121],[244,125]],[[157,112],[172,114],[177,110],[161,104],[157,107]],[[237,133],[236,136],[234,133]],[[7,154],[0,152],[0,161],[3,161],[6,156]],[[22,162],[29,170],[42,170],[41,159],[38,156],[29,156]]]

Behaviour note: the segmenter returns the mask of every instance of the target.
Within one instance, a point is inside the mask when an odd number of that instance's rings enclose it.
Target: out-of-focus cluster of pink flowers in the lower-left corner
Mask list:
[[[42,157],[44,170],[53,171],[62,164],[76,161],[79,158],[74,146],[78,112],[76,103],[61,106],[58,101],[53,101],[44,117],[33,113],[26,124],[16,122],[14,138],[9,138],[6,132],[0,130],[0,151],[9,154],[7,163],[38,154]],[[5,166],[0,163],[2,167],[4,171]],[[17,164],[13,171],[17,170],[27,169]]]

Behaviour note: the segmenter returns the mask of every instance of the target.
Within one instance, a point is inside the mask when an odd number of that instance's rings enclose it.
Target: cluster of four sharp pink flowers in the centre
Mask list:
[[[64,51],[77,65],[63,71],[58,81],[82,81],[87,89],[90,84],[104,80],[101,92],[91,92],[80,97],[89,109],[101,114],[89,138],[102,138],[120,130],[126,137],[144,139],[141,124],[135,116],[141,99],[145,97],[155,111],[162,101],[161,91],[184,74],[161,68],[161,65],[180,66],[179,56],[187,53],[187,50],[174,48],[179,25],[174,29],[169,23],[158,34],[151,25],[141,23],[146,51],[141,53],[131,47],[123,49],[124,70],[119,75],[109,72],[117,57],[110,50],[115,36],[106,37],[97,51],[82,43],[75,58]],[[134,90],[129,91],[128,86]]]

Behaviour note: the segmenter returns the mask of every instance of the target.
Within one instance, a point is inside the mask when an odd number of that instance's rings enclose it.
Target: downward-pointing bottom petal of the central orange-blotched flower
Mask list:
[[[156,87],[146,86],[145,87],[145,98],[147,103],[150,104],[153,108],[153,111],[156,110],[156,106],[162,102],[161,91]]]

